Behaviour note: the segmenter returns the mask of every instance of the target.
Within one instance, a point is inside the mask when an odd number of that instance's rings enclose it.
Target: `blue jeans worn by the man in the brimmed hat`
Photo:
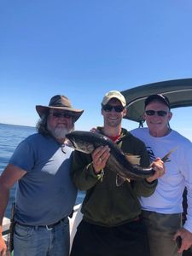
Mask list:
[[[14,256],[68,256],[69,221],[53,229],[15,224]]]

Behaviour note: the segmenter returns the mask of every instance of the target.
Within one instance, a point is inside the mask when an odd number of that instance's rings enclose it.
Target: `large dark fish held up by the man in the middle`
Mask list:
[[[67,139],[76,150],[86,154],[92,153],[99,146],[108,146],[110,148],[110,156],[106,163],[108,169],[117,174],[116,183],[120,185],[125,180],[141,179],[154,175],[151,167],[143,168],[138,165],[131,164],[122,150],[113,143],[108,137],[90,131],[73,131],[67,134]]]

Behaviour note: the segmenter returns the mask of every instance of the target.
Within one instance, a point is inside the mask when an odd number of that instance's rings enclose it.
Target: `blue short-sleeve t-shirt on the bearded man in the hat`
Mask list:
[[[27,173],[16,189],[16,221],[54,224],[73,211],[77,189],[70,177],[72,151],[41,134],[33,134],[18,145],[9,163]]]

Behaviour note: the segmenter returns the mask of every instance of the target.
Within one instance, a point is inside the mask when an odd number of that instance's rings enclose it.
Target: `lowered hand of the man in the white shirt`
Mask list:
[[[181,237],[182,243],[181,247],[178,248],[178,253],[183,253],[184,250],[188,250],[192,245],[192,233],[184,228],[177,230],[177,233],[173,237],[173,240],[176,241],[177,236]]]

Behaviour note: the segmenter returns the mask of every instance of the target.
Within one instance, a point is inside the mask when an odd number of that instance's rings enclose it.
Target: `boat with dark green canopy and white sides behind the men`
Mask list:
[[[127,105],[127,113],[125,119],[137,122],[142,127],[144,123],[144,101],[151,94],[164,94],[168,96],[171,108],[191,107],[192,106],[192,79],[175,79],[157,82],[153,84],[139,85],[128,90],[122,90]],[[82,219],[80,212],[81,204],[74,207],[73,218],[69,218],[70,224],[70,247],[73,243],[77,226]],[[186,208],[185,208],[186,211]],[[3,218],[3,236],[5,240],[9,234],[10,220]],[[183,254],[191,256],[192,253]]]

